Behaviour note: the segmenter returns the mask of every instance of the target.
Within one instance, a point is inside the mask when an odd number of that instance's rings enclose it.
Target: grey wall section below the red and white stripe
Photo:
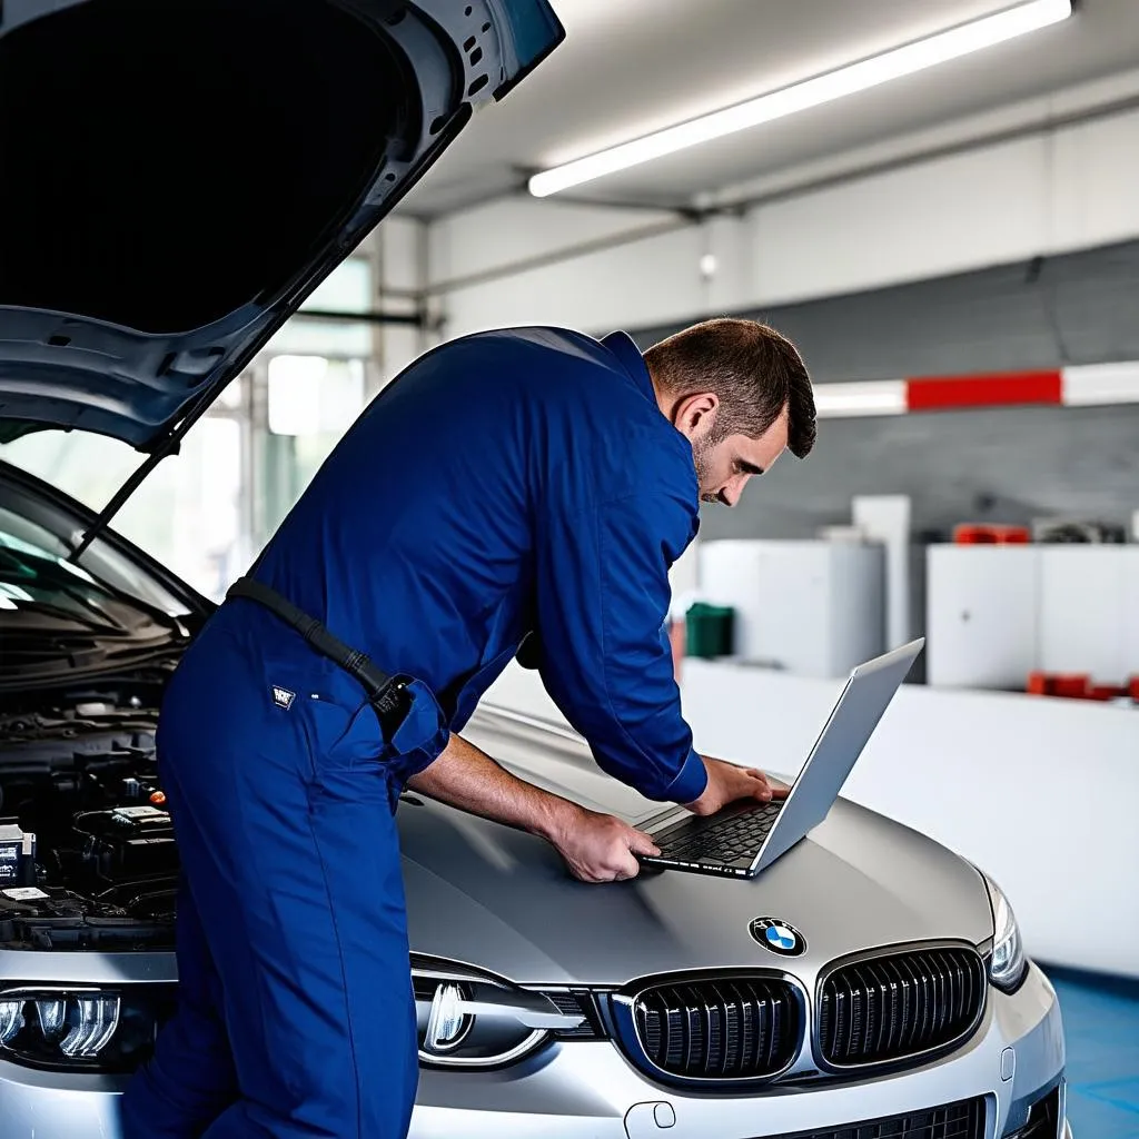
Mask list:
[[[820,424],[816,453],[782,458],[740,505],[702,509],[700,538],[811,538],[854,494],[909,494],[915,533],[957,523],[1139,509],[1139,407],[1030,408]]]

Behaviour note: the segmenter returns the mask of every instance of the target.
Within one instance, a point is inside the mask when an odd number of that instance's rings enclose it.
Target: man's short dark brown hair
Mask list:
[[[656,384],[685,399],[720,399],[715,440],[759,439],[787,409],[787,448],[798,459],[814,446],[814,394],[806,364],[787,337],[755,320],[721,318],[693,325],[645,353]]]

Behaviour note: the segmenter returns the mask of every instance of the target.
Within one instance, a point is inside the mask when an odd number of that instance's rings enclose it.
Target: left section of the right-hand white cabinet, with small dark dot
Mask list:
[[[1033,546],[932,546],[926,678],[943,688],[1023,689],[1036,666],[1040,557]]]

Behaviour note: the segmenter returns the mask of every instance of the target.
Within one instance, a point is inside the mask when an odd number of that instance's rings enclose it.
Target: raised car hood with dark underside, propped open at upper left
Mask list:
[[[563,38],[546,0],[0,5],[0,441],[163,448]]]

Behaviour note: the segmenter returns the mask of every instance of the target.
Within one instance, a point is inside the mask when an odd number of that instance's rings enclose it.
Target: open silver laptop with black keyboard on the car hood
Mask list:
[[[924,646],[918,638],[851,672],[786,798],[745,800],[703,818],[670,806],[634,823],[661,849],[638,855],[640,863],[735,878],[754,878],[771,866],[830,812]]]

